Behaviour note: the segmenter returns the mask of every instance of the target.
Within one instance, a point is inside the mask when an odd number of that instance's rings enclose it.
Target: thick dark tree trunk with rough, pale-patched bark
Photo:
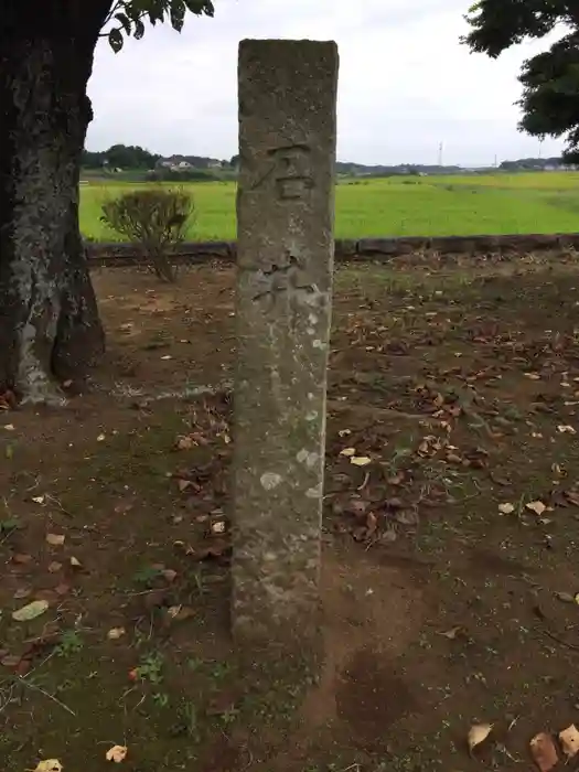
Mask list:
[[[110,0],[8,0],[0,14],[0,394],[54,401],[104,332],[78,227],[86,85]]]

